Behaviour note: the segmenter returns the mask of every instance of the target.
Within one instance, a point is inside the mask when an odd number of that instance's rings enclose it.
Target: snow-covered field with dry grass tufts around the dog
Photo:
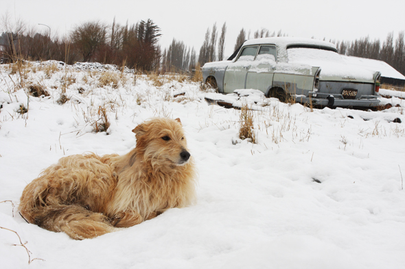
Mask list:
[[[238,138],[240,111],[209,105],[197,83],[117,72],[103,86],[91,69],[30,68],[19,77],[0,66],[0,227],[32,260],[0,229],[1,268],[404,268],[404,100],[382,99],[394,107],[381,112],[311,111],[251,91],[238,101],[259,104],[252,144]],[[50,95],[28,98],[19,83]],[[62,88],[69,101],[59,104]],[[93,132],[99,105],[108,134]],[[181,118],[196,205],[83,241],[19,216],[43,168],[86,151],[126,153],[131,130],[153,116]]]

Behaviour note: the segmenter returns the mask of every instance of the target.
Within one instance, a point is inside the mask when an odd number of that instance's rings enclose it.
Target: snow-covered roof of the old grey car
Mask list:
[[[277,44],[279,47],[290,47],[291,45],[313,45],[320,47],[327,47],[336,51],[335,44],[322,40],[316,40],[312,38],[292,38],[292,37],[273,37],[273,38],[255,38],[246,40],[244,46],[253,44]]]

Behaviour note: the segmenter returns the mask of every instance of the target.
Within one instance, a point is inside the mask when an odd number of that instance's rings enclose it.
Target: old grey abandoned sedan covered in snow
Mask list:
[[[321,40],[247,40],[233,59],[209,62],[202,71],[204,82],[222,93],[255,89],[266,97],[321,107],[375,107],[380,103],[381,73],[350,64],[334,44]]]

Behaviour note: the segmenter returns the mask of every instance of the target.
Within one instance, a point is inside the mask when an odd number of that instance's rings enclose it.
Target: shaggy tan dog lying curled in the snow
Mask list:
[[[25,187],[21,215],[82,240],[190,205],[196,175],[180,120],[154,118],[132,131],[137,146],[126,155],[71,155],[45,169]]]

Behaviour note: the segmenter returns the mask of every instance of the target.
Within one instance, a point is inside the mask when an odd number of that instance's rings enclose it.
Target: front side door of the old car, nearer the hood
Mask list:
[[[245,88],[246,75],[255,60],[258,47],[244,47],[238,59],[229,64],[224,75],[224,92],[231,93],[234,90]]]

